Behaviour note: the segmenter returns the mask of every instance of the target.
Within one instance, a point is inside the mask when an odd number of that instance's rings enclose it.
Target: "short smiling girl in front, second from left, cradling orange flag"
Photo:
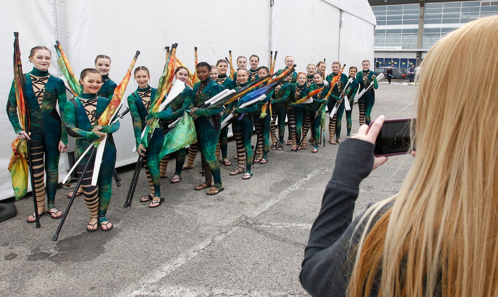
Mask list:
[[[98,227],[104,231],[113,229],[113,224],[106,217],[112,194],[113,170],[116,164],[116,146],[112,133],[118,131],[120,123],[101,126],[98,120],[111,101],[109,98],[98,96],[102,85],[100,71],[93,68],[84,69],[80,75],[80,84],[83,92],[70,100],[65,106],[64,126],[68,134],[76,138],[75,154],[78,158],[93,141],[103,140],[108,134],[102,158],[97,185],[92,186],[92,174],[95,157],[90,160],[87,171],[83,172],[88,161],[87,154],[76,166],[78,175],[83,174],[81,185],[85,196],[85,203],[90,210],[90,221],[87,231],[95,232]]]

